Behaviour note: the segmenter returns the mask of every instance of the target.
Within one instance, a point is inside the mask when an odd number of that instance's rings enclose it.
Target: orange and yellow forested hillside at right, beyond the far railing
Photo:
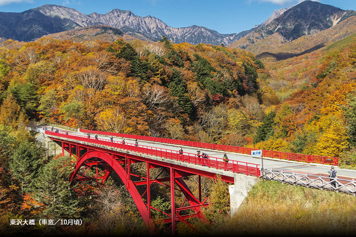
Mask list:
[[[273,131],[257,146],[354,163],[355,35],[299,57],[264,60],[271,77],[260,86],[283,102],[270,115]]]

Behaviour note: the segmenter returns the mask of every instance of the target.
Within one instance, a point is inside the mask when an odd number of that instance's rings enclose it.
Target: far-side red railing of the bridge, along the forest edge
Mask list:
[[[79,131],[82,133],[97,133],[97,134],[107,135],[107,136],[125,137],[125,138],[168,143],[168,144],[175,144],[175,145],[195,147],[195,148],[222,150],[222,151],[235,152],[235,153],[247,154],[247,155],[251,154],[251,150],[257,150],[255,148],[244,148],[244,147],[236,147],[230,145],[193,142],[193,141],[176,140],[176,139],[160,138],[160,137],[152,137],[152,136],[132,135],[132,134],[125,134],[125,133],[110,133],[110,132],[93,131],[93,130],[85,130],[85,129],[80,129]],[[337,157],[305,155],[305,154],[273,151],[273,150],[262,150],[262,155],[263,157],[283,159],[288,161],[305,162],[305,163],[319,163],[319,164],[330,164],[330,165],[339,164],[339,159]]]

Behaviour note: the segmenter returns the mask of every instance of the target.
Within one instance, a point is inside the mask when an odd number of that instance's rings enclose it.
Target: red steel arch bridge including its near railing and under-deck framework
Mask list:
[[[209,203],[206,202],[206,198],[203,200],[201,198],[201,177],[217,178],[219,175],[222,180],[234,183],[234,178],[238,174],[251,178],[261,175],[259,164],[254,163],[239,161],[226,163],[222,158],[212,156],[203,158],[194,153],[180,153],[177,150],[103,138],[95,139],[93,136],[89,138],[86,135],[67,132],[46,131],[45,134],[62,147],[62,154],[68,152],[71,157],[76,159],[71,182],[95,180],[97,184],[101,185],[105,183],[112,172],[115,172],[131,194],[145,224],[153,228],[152,210],[167,215],[167,218],[161,222],[171,223],[172,231],[175,231],[176,221],[185,222],[189,226],[190,224],[186,221],[188,218],[197,217],[206,221],[201,213],[201,207],[207,206]],[[145,177],[131,171],[131,165],[134,163],[145,163],[147,168]],[[169,178],[152,178],[150,169],[157,167],[166,170]],[[197,196],[193,194],[183,179],[193,175],[198,176]],[[154,183],[170,187],[170,213],[151,206],[150,187]],[[139,187],[144,187],[144,189]],[[144,191],[142,192],[142,190]],[[184,194],[183,203],[174,202],[174,191]],[[81,191],[77,190],[77,192]]]

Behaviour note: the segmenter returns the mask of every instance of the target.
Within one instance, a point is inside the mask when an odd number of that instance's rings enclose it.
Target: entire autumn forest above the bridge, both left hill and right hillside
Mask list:
[[[9,40],[1,47],[0,123],[341,157],[353,144],[352,39],[293,59],[263,59],[267,69],[244,50],[166,38]]]

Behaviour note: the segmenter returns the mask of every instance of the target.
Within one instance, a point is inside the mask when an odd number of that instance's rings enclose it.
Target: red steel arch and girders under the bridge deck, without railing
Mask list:
[[[62,146],[62,152],[64,150],[69,152],[70,156],[76,158],[76,167],[75,171],[71,175],[72,182],[81,182],[85,180],[95,180],[98,185],[104,184],[104,182],[109,177],[112,171],[116,172],[120,179],[124,182],[127,191],[131,194],[138,210],[141,214],[141,217],[144,223],[152,229],[155,229],[154,222],[151,217],[151,210],[157,210],[165,215],[168,218],[161,220],[164,223],[171,223],[172,232],[175,233],[175,222],[180,221],[184,222],[191,226],[186,219],[197,217],[204,222],[208,222],[207,219],[201,212],[201,207],[209,205],[206,203],[206,198],[201,201],[201,175],[216,178],[214,174],[208,172],[202,172],[197,170],[196,172],[191,172],[192,169],[189,169],[184,166],[179,166],[176,164],[160,162],[145,157],[140,157],[132,154],[127,154],[123,152],[116,152],[106,148],[97,148],[94,146],[83,145],[75,142],[68,142],[61,139],[51,138],[57,140]],[[132,163],[145,162],[146,163],[146,177],[141,177],[135,174],[132,174],[130,171],[130,165]],[[100,166],[100,168],[99,168]],[[156,167],[163,167],[167,173],[170,175],[170,178],[150,178],[150,169]],[[95,172],[91,176],[87,176],[87,172],[91,169],[95,169]],[[194,194],[190,191],[188,186],[184,181],[184,177],[198,175],[199,177],[199,197],[195,197]],[[133,181],[132,177],[138,177],[143,180]],[[227,178],[228,181],[231,179]],[[169,182],[170,184],[165,184]],[[153,183],[158,183],[170,187],[171,195],[171,213],[165,213],[161,210],[158,210],[154,207],[151,207],[151,192],[150,187]],[[144,193],[139,194],[137,189],[138,186],[145,185],[146,190]],[[185,200],[180,205],[180,207],[175,207],[176,203],[174,201],[174,192],[180,191],[185,195]],[[146,203],[144,201],[144,196],[146,196]],[[188,204],[188,205],[187,205]],[[182,211],[192,210],[194,213],[181,214]],[[173,214],[172,214],[173,213]]]

